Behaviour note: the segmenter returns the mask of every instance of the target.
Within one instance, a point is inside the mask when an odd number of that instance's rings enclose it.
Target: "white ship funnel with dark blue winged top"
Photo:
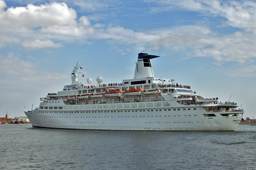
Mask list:
[[[150,59],[160,56],[148,55],[147,53],[138,54],[138,62],[136,63],[134,78],[154,77],[151,68]]]

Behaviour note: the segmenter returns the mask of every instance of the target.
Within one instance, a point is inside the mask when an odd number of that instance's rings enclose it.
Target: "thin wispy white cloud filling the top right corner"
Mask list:
[[[205,15],[221,16],[226,19],[226,24],[243,29],[256,27],[256,3],[253,1],[206,1],[206,0],[144,0],[155,2],[159,6],[153,7],[154,12],[167,10],[190,10]]]

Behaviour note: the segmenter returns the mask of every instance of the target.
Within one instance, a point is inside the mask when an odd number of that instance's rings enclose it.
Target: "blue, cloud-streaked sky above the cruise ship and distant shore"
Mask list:
[[[154,75],[256,118],[256,1],[0,0],[0,117],[25,116],[71,83],[134,76],[138,53]]]

